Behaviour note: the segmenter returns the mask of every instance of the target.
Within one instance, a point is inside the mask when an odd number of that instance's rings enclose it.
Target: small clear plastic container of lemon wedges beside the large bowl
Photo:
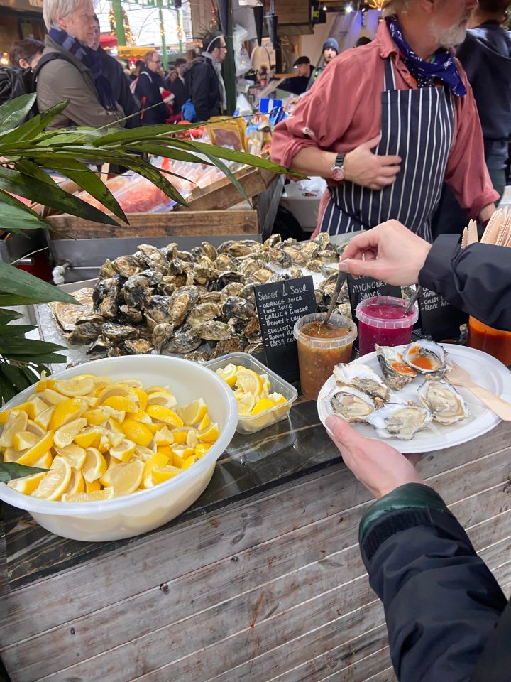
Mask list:
[[[255,433],[282,421],[298,397],[295,386],[248,353],[229,353],[204,366],[231,386],[238,403],[238,433]]]

